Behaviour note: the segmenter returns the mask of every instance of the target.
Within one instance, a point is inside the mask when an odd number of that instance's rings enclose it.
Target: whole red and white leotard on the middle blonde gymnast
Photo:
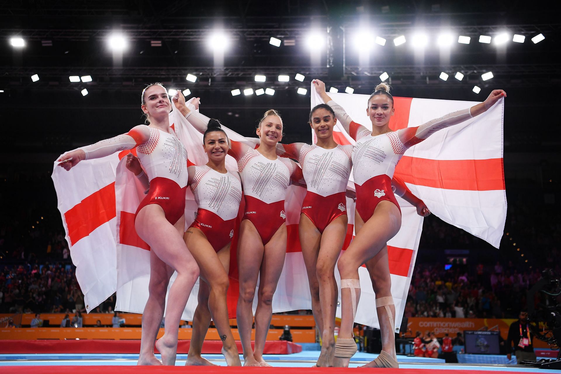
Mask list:
[[[206,130],[209,119],[194,111],[187,116],[187,120],[201,132]],[[238,163],[245,195],[242,220],[251,221],[265,245],[286,221],[286,190],[291,179],[301,179],[300,167],[287,158],[277,156],[270,160],[242,142],[231,140],[231,144],[228,154]]]

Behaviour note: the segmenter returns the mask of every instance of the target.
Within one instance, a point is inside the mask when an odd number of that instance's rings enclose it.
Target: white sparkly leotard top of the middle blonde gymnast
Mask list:
[[[294,166],[287,158],[277,156],[277,159],[269,160],[259,151],[250,148],[238,160],[238,169],[242,177],[243,192],[271,204],[286,197]]]

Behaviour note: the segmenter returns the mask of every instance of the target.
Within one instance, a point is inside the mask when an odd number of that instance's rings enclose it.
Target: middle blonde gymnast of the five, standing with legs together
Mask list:
[[[199,131],[207,128],[209,118],[191,111],[187,120]],[[300,167],[277,156],[275,147],[282,139],[279,114],[268,110],[259,121],[256,133],[260,145],[253,149],[243,142],[231,141],[229,154],[238,162],[245,193],[245,214],[240,224],[238,269],[240,297],[237,323],[243,347],[244,366],[270,366],[263,349],[272,317],[273,294],[284,265],[287,230],[284,197],[289,184],[302,180]],[[259,277],[255,311],[255,348],[251,348],[252,304]]]

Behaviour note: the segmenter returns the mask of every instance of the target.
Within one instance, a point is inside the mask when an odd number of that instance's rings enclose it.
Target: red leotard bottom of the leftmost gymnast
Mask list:
[[[139,211],[150,204],[157,204],[164,210],[165,218],[172,225],[185,214],[185,190],[187,186],[181,188],[179,184],[168,178],[156,177],[150,181],[148,195],[142,199],[136,215]]]

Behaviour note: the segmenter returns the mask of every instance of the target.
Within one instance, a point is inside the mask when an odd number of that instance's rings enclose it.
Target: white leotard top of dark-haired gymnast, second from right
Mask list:
[[[302,173],[307,190],[321,196],[345,192],[351,174],[352,145],[338,145],[325,149],[306,144],[300,149]]]

